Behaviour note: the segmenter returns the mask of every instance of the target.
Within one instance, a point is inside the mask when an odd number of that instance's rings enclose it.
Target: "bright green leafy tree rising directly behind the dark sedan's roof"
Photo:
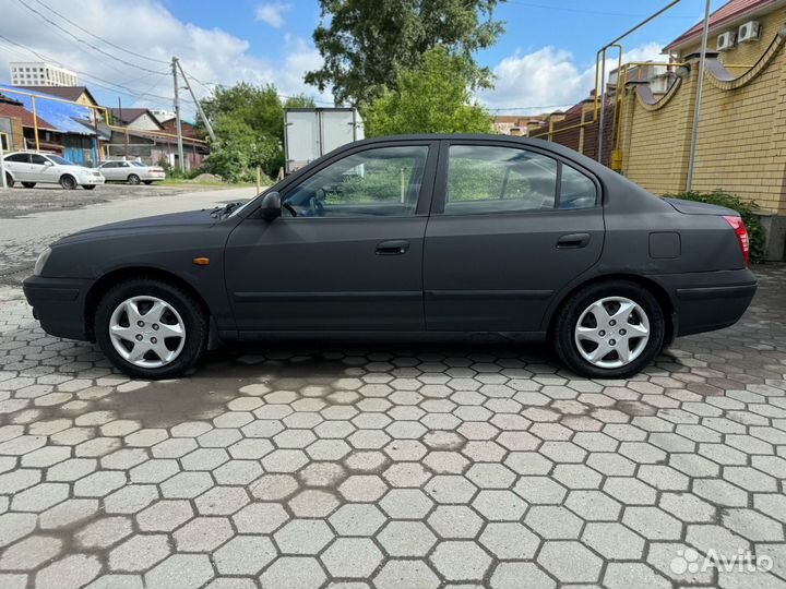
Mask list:
[[[366,134],[491,132],[491,117],[472,99],[472,75],[465,58],[429,50],[420,67],[398,72],[394,89],[364,109]]]

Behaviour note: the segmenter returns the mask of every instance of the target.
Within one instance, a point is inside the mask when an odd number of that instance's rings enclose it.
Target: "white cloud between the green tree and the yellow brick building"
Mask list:
[[[623,62],[663,60],[660,44],[650,43],[623,55]],[[616,68],[609,51],[607,70]],[[514,52],[495,68],[495,88],[478,93],[478,99],[500,112],[535,115],[574,105],[595,87],[595,64],[582,69],[570,51],[544,47],[531,53]]]

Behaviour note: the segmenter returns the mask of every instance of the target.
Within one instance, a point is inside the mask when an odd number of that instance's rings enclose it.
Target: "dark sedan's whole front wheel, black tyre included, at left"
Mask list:
[[[162,306],[166,310],[156,315],[155,310]],[[131,313],[136,312],[134,321]],[[150,313],[152,318],[145,322]],[[181,336],[156,339],[156,335],[177,333],[176,327]],[[207,346],[209,322],[203,305],[182,288],[153,278],[126,280],[109,289],[96,308],[94,328],[96,341],[111,363],[134,378],[180,376],[199,362]],[[160,345],[167,348],[164,354],[172,353],[174,358],[162,358],[154,349]]]

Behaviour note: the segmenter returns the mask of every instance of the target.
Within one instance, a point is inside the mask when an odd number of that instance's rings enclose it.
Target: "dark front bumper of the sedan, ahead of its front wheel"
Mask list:
[[[31,276],[23,284],[33,316],[49,335],[68,339],[90,339],[85,301],[93,280]]]

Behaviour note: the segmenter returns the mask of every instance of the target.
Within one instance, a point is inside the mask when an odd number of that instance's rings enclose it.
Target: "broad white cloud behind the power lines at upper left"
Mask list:
[[[233,85],[240,81],[253,84],[275,84],[281,94],[306,93],[319,100],[332,101],[329,93],[319,94],[302,81],[306,71],[319,68],[321,58],[306,40],[289,38],[284,44],[284,57],[267,60],[253,56],[249,43],[219,28],[204,28],[183,22],[169,12],[159,0],[82,0],[79,16],[74,16],[71,0],[48,0],[55,11],[78,22],[80,26],[106,38],[120,47],[158,61],[130,56],[103,44],[62,21],[53,13],[47,16],[62,24],[63,28],[82,39],[75,40],[58,31],[37,15],[31,14],[21,3],[9,3],[2,10],[0,35],[38,51],[56,63],[78,71],[80,83],[102,94],[100,81],[79,72],[85,72],[112,84],[131,88],[134,96],[123,95],[123,106],[171,108],[172,80],[169,69],[171,56],[178,56],[186,73],[192,77],[192,86],[201,98],[210,91],[193,82]],[[36,7],[36,4],[31,4]],[[143,71],[116,59],[100,55],[86,46],[91,43],[107,52],[157,73]],[[0,81],[9,81],[8,62],[37,60],[28,50],[11,46],[0,38]],[[106,85],[106,84],[104,84]],[[111,95],[104,91],[103,95]],[[114,91],[123,94],[123,91]],[[181,96],[187,96],[186,92]],[[110,106],[117,104],[117,98]],[[183,105],[186,116],[193,117],[194,108]]]

